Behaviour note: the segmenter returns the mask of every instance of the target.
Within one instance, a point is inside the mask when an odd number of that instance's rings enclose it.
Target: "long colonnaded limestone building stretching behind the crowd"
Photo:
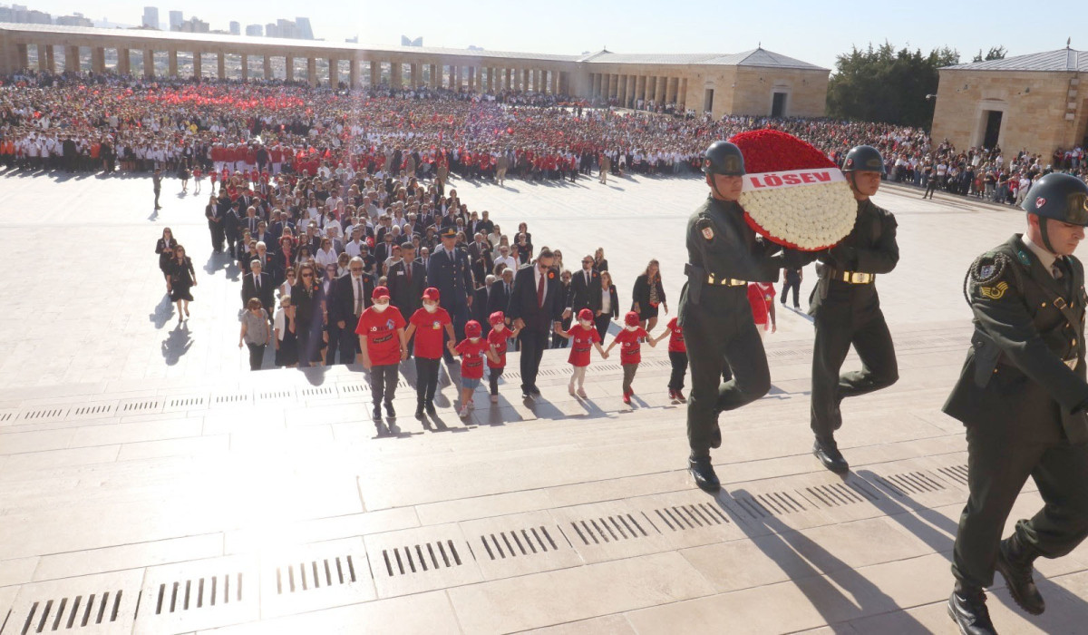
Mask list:
[[[601,50],[555,56],[0,23],[0,72],[20,69],[243,81],[280,77],[311,85],[342,82],[351,87],[533,90],[608,98],[629,108],[640,101],[675,103],[681,110],[710,112],[716,118],[727,113],[820,117],[830,73],[763,48],[733,54]]]

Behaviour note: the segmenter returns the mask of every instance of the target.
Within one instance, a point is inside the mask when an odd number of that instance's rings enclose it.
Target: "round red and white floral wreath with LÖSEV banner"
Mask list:
[[[803,252],[834,246],[854,229],[857,203],[842,171],[812,145],[776,130],[734,135],[744,155],[740,205],[767,240]]]

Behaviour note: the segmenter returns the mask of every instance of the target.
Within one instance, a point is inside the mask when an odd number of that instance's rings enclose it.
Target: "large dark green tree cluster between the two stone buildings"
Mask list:
[[[853,47],[836,60],[827,91],[828,114],[838,119],[880,121],[928,127],[937,93],[938,70],[960,63],[948,47],[923,54],[920,49],[895,48],[888,41],[866,50]]]

